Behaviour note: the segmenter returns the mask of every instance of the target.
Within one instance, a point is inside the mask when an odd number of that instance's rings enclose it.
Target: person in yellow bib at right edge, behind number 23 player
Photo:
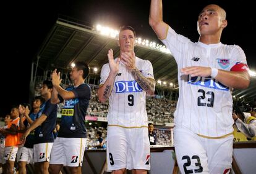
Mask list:
[[[234,119],[234,141],[256,140],[256,118],[250,113],[243,113],[240,108],[234,106],[232,114]]]

